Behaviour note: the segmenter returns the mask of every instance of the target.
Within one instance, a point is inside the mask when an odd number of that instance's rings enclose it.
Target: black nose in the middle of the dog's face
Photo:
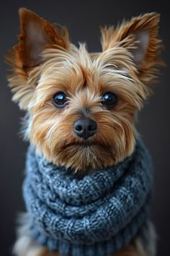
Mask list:
[[[86,140],[97,132],[97,123],[92,119],[78,119],[73,124],[73,131]]]

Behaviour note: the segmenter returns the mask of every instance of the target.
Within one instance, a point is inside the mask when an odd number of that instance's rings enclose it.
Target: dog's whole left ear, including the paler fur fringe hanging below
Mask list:
[[[28,9],[19,9],[19,19],[19,43],[6,55],[6,61],[12,66],[12,74],[8,77],[14,93],[12,100],[18,102],[20,108],[27,109],[38,80],[38,68],[44,61],[42,51],[53,47],[68,50],[69,39],[65,27],[59,31],[55,25]]]

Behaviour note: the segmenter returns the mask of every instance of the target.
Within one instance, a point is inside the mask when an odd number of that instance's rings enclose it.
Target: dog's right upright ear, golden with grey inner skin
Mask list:
[[[156,76],[161,40],[158,39],[159,14],[152,12],[122,22],[116,28],[102,28],[102,50],[125,47],[132,56],[138,76],[143,82],[151,82]]]

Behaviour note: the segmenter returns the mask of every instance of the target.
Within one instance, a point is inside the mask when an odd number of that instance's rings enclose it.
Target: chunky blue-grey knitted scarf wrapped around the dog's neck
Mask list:
[[[153,173],[141,140],[122,163],[82,179],[48,163],[30,146],[26,171],[30,236],[61,255],[113,254],[148,220]]]

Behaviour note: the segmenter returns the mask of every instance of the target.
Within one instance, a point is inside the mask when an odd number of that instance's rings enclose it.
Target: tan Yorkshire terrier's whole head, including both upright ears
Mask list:
[[[13,100],[27,110],[25,136],[48,161],[111,166],[133,153],[135,114],[156,77],[158,14],[102,28],[102,51],[73,46],[34,12],[20,10],[19,44],[8,57]]]

